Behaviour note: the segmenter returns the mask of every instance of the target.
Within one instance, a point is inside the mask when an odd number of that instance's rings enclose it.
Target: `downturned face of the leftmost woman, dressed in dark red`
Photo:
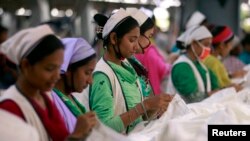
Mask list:
[[[41,92],[50,91],[60,79],[63,56],[64,50],[58,49],[36,64],[23,67],[23,74],[28,83]]]

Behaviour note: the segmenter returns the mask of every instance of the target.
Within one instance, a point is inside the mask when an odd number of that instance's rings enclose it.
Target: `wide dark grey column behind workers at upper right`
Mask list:
[[[240,1],[238,0],[182,0],[181,26],[186,24],[188,17],[196,10],[201,11],[209,23],[228,25],[235,34],[240,29]]]

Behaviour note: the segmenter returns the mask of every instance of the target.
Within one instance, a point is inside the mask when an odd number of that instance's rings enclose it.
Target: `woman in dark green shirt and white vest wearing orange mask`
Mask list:
[[[210,53],[212,35],[205,26],[185,31],[177,45],[184,52],[171,72],[170,93],[178,93],[187,103],[198,102],[218,88],[217,79],[202,63]]]

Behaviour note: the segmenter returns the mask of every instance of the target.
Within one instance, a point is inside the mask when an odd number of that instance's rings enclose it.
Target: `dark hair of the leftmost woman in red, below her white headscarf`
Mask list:
[[[47,35],[41,39],[26,58],[31,65],[34,65],[58,49],[64,49],[63,43],[55,35]]]

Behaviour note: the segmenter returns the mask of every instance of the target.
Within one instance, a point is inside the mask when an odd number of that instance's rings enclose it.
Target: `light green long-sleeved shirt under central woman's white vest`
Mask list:
[[[141,102],[141,94],[136,85],[137,75],[135,70],[127,63],[123,63],[123,66],[112,62],[108,63],[116,73],[118,81],[121,84],[125,101],[127,102],[127,110],[135,107],[136,104]],[[93,75],[93,83],[90,88],[90,108],[96,112],[98,118],[107,126],[118,132],[125,130],[120,115],[114,115],[115,104],[111,83],[108,76],[102,72],[96,72]],[[141,120],[142,118],[140,117],[134,121],[130,125],[129,131]]]

